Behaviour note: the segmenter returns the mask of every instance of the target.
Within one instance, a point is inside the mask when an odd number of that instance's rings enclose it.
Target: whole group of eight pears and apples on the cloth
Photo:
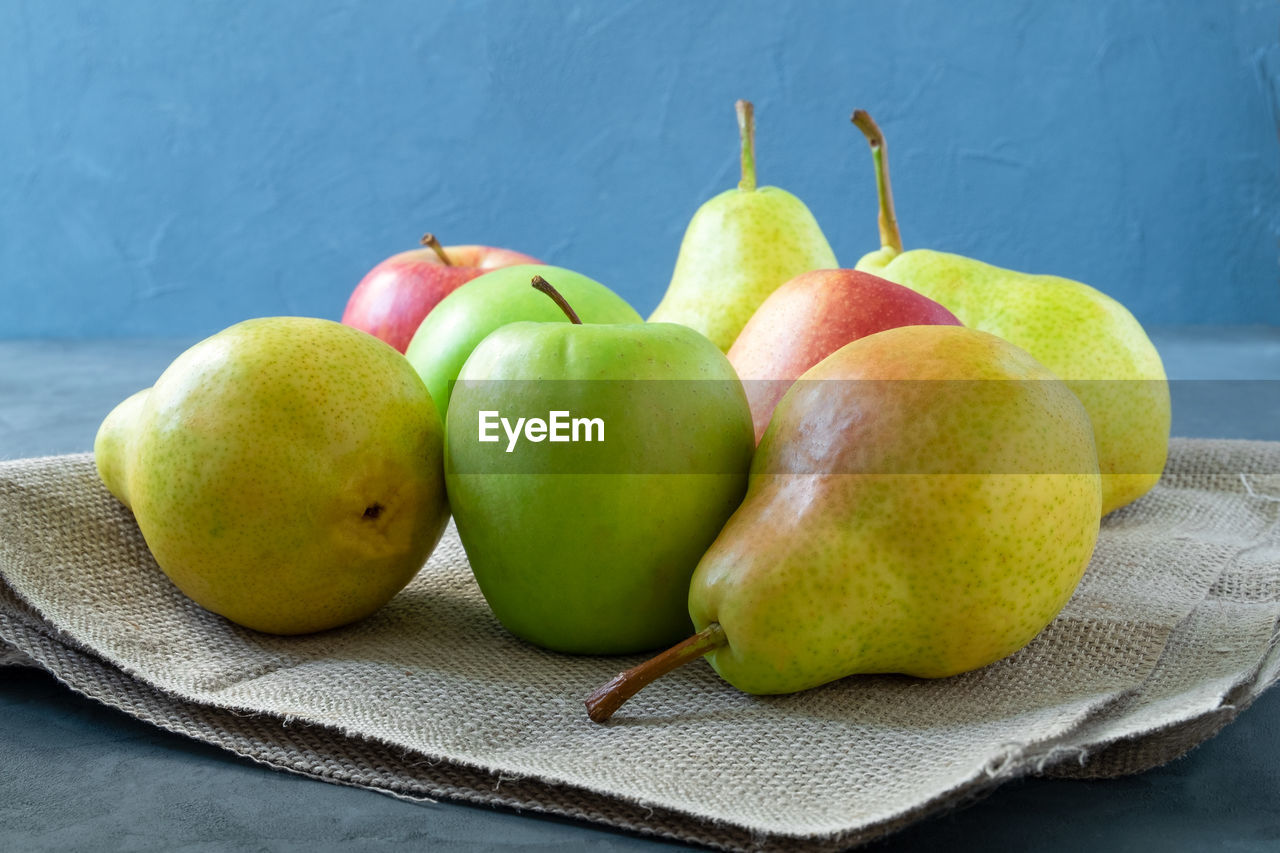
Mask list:
[[[260,318],[104,420],[95,459],[200,606],[300,634],[367,616],[452,511],[512,634],[659,652],[604,721],[705,657],[735,688],[946,678],[1029,643],[1106,512],[1160,478],[1160,356],[1078,282],[882,248],[838,266],[809,209],[741,181],[694,214],[645,321],[605,284],[483,246],[375,266],[343,323]],[[726,355],[727,353],[727,355]]]

